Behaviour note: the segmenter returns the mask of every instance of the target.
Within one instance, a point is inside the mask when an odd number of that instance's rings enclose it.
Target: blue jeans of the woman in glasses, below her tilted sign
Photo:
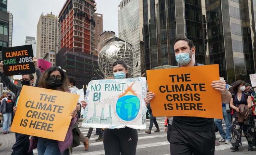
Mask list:
[[[52,139],[46,139],[38,137],[37,142],[38,155],[69,155],[69,149],[67,148],[63,153],[60,152],[57,141]]]

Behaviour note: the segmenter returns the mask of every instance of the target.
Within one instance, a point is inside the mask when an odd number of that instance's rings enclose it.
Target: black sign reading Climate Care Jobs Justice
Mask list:
[[[32,45],[2,49],[3,70],[5,76],[35,73]]]

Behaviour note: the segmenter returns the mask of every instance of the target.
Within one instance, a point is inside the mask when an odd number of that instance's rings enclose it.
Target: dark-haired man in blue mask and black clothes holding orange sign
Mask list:
[[[173,44],[176,61],[180,67],[198,66],[191,58],[195,53],[193,42],[187,38],[177,38]],[[226,90],[226,82],[213,81],[211,86],[221,92],[222,103],[228,104],[231,93]],[[155,97],[153,92],[146,95],[147,102]],[[214,103],[214,104],[222,104]],[[213,118],[174,116],[172,126],[168,126],[171,155],[213,155],[215,132]]]

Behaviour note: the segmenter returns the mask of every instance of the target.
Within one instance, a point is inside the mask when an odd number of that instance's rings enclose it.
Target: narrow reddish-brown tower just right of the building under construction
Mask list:
[[[102,14],[94,13],[94,21],[95,21],[95,33],[93,35],[94,48],[97,48],[98,43],[100,43],[100,35],[103,32],[103,17]],[[95,51],[95,55],[99,53]]]

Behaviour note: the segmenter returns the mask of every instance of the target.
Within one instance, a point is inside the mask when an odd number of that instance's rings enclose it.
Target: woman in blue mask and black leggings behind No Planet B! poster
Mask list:
[[[128,78],[128,68],[124,61],[116,61],[113,64],[115,79]],[[86,107],[83,103],[83,108]],[[135,155],[138,142],[138,132],[129,127],[121,129],[105,129],[103,145],[106,155]]]

